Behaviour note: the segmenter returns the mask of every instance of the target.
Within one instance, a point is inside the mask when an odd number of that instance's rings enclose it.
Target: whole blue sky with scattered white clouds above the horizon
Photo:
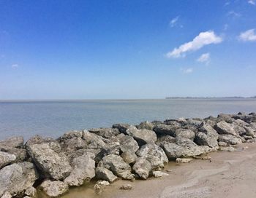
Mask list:
[[[0,0],[0,100],[256,95],[256,0]]]

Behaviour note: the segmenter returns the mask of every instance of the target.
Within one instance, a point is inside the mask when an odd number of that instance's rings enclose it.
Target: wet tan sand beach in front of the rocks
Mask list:
[[[248,148],[243,150],[245,146]],[[63,198],[256,197],[256,144],[242,147],[236,152],[211,153],[211,161],[195,159],[182,165],[170,162],[165,167],[165,170],[172,170],[168,176],[147,181],[116,181],[100,196],[94,193],[91,183],[71,189]],[[132,190],[119,190],[126,183],[132,184]]]

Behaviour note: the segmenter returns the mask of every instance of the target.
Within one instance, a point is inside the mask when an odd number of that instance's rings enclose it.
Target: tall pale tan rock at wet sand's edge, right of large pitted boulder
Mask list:
[[[95,176],[95,155],[93,153],[85,153],[82,156],[75,157],[72,160],[72,171],[70,175],[64,179],[69,186],[81,186],[84,182],[91,181]]]

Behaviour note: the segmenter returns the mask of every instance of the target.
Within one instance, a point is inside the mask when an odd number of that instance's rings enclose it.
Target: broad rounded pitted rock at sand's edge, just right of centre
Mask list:
[[[165,163],[169,162],[165,151],[154,143],[141,146],[136,154],[138,157],[146,158],[151,163],[153,170],[159,170],[165,166]]]

